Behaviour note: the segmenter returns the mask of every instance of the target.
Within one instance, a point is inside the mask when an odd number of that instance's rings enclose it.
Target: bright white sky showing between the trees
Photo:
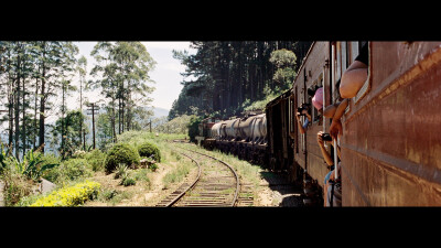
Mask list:
[[[87,58],[87,72],[89,73],[94,67],[95,60],[90,56],[90,52],[94,48],[96,42],[74,42],[78,48],[80,55]],[[147,52],[157,62],[153,71],[149,73],[149,76],[155,84],[150,85],[155,87],[155,90],[150,95],[153,98],[152,106],[155,108],[164,108],[170,110],[172,104],[178,99],[181,93],[181,82],[184,77],[180,75],[185,71],[185,66],[180,63],[179,60],[173,58],[172,50],[189,51],[190,54],[195,53],[195,50],[190,48],[190,42],[142,42],[146,45]],[[78,85],[79,86],[79,85]],[[98,99],[100,96],[97,93],[86,93],[89,99]],[[79,94],[73,94],[68,99],[71,108],[79,107],[78,98]],[[76,107],[74,107],[76,106]]]

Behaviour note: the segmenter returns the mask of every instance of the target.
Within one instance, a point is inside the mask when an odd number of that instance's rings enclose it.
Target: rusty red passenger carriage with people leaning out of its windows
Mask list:
[[[362,42],[316,42],[293,84],[293,99],[311,103],[305,89],[323,72],[325,106]],[[342,117],[343,206],[441,205],[440,42],[369,42],[368,79]],[[327,61],[331,62],[327,65]],[[313,116],[314,118],[314,116]],[[295,119],[292,121],[295,122]],[[330,121],[294,132],[294,163],[320,186],[327,173],[316,143]],[[303,137],[302,137],[303,136]]]

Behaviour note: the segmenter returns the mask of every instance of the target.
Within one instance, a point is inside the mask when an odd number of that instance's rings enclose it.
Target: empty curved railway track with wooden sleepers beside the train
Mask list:
[[[211,155],[183,150],[187,154],[180,153],[198,165],[198,175],[194,182],[183,183],[157,206],[236,206],[240,182],[234,169]]]

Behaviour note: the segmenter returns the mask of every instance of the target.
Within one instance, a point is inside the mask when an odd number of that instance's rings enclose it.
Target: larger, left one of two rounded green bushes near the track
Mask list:
[[[105,169],[107,173],[111,173],[120,163],[131,166],[139,164],[140,160],[138,150],[131,144],[117,143],[107,153]]]

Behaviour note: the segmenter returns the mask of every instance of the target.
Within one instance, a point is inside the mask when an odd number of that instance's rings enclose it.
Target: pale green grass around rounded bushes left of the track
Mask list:
[[[185,137],[186,139],[189,139],[189,137],[185,134],[160,133],[159,136],[155,136],[155,133],[150,133],[148,131],[127,131],[118,136],[118,142],[130,142],[135,147],[146,141],[154,143],[160,149],[162,157],[161,163],[158,163],[158,165],[160,168],[163,166],[170,170],[170,173],[165,174],[165,176],[162,179],[162,183],[166,188],[172,186],[171,184],[182,182],[184,177],[192,171],[192,169],[196,168],[196,165],[192,161],[173,150],[175,149],[175,144],[170,143],[174,139],[184,139]],[[185,148],[190,147],[185,144],[183,145]],[[83,163],[79,164],[79,162],[83,161],[82,159],[69,159],[63,162],[63,166],[61,165],[56,169],[53,169],[53,176],[50,181],[54,181],[54,183],[57,184],[55,191],[61,187],[73,186],[85,180],[97,180],[99,182],[103,182],[103,187],[98,194],[98,198],[88,202],[95,202],[90,203],[90,205],[101,205],[97,203],[100,202],[109,206],[120,205],[121,202],[125,200],[130,201],[129,203],[135,203],[137,197],[139,198],[140,195],[152,191],[151,180],[153,179],[153,175],[158,175],[154,174],[158,172],[152,172],[150,169],[146,168],[139,168],[137,170],[130,169],[128,171],[130,173],[130,177],[136,181],[136,185],[121,187],[121,185],[118,185],[116,183],[114,174],[108,177],[101,175],[104,173],[103,161],[105,159],[105,155],[106,154],[104,152],[97,150],[85,154],[84,161],[87,161],[87,163],[84,163],[84,166],[82,165]],[[72,171],[71,169],[75,169],[76,171]],[[79,173],[78,176],[67,176],[73,174],[73,172],[82,173]],[[120,180],[121,179],[118,179],[118,183]],[[18,205],[29,205],[30,203],[35,202],[37,198],[46,196],[49,194],[51,193],[46,193],[44,195],[28,195],[23,198],[22,203],[19,203]],[[138,204],[141,203],[138,201]]]

